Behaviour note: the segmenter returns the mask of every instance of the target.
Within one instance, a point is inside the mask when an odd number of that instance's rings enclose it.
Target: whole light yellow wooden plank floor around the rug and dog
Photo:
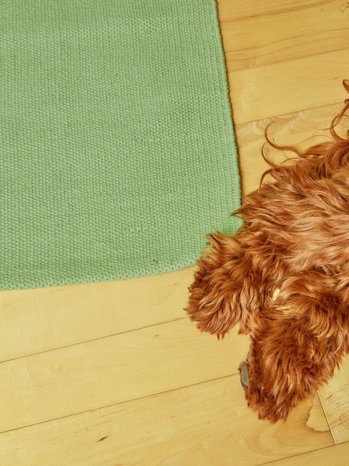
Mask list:
[[[247,193],[267,123],[276,143],[309,146],[348,97],[349,2],[218,8]],[[1,465],[349,464],[349,358],[286,423],[259,421],[237,373],[248,338],[218,342],[182,310],[193,270],[0,292]]]

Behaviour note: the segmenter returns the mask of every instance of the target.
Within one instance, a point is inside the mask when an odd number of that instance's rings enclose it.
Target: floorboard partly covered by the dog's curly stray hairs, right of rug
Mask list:
[[[342,107],[343,103],[335,103],[235,125],[242,194],[257,189],[263,172],[269,168],[261,154],[262,146],[266,142],[264,130],[268,124],[270,124],[268,137],[271,141],[275,144],[295,147],[302,152],[311,145],[328,140],[330,133],[325,129],[329,127],[332,118],[342,110]],[[343,125],[338,125],[336,130],[342,135]],[[287,157],[294,156],[292,152],[284,154],[269,145],[265,146],[264,155],[276,164],[281,164]]]

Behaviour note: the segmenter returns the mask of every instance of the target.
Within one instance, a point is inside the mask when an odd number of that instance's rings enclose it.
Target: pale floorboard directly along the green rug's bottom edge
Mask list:
[[[184,317],[194,269],[122,281],[0,291],[1,360]]]

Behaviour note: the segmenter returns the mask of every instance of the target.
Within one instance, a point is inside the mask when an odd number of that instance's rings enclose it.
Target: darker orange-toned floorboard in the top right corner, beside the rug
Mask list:
[[[348,47],[349,4],[330,1],[220,1],[228,72]]]

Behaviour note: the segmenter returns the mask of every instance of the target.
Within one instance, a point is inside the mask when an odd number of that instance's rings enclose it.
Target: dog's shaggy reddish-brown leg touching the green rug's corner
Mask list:
[[[242,235],[215,233],[208,236],[210,247],[197,264],[185,310],[201,331],[224,336],[237,322],[240,333],[248,333],[248,321],[261,307],[261,295],[254,285],[256,272],[249,254],[243,252]],[[262,285],[260,287],[263,288]]]

